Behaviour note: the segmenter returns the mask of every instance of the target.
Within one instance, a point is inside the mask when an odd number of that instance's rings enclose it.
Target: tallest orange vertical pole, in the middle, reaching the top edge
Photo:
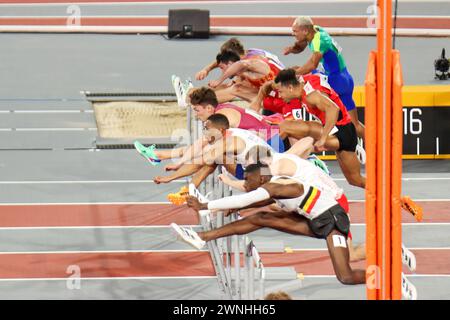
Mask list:
[[[377,30],[377,261],[381,271],[378,299],[391,298],[391,94],[392,3],[378,0]]]

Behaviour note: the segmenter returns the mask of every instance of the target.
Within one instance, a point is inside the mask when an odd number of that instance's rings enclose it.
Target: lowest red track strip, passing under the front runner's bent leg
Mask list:
[[[417,273],[450,274],[450,250],[417,250]],[[305,275],[333,275],[327,251],[263,253],[266,267],[293,266]],[[0,278],[65,278],[70,265],[81,277],[213,276],[207,252],[2,254]],[[353,264],[364,268],[364,262]],[[405,270],[406,272],[406,270]]]

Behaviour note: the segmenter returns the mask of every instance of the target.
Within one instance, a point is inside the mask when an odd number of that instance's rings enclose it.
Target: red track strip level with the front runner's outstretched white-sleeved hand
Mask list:
[[[419,204],[424,209],[423,222],[450,222],[450,201]],[[0,206],[0,212],[0,227],[198,224],[193,210],[168,204],[12,205]],[[350,216],[352,223],[364,223],[364,203],[351,203]],[[414,221],[410,214],[403,212],[403,222]]]

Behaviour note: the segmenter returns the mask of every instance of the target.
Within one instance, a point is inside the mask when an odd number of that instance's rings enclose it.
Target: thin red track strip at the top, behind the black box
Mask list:
[[[0,17],[0,25],[64,26],[69,17]],[[312,17],[323,27],[366,28],[366,17]],[[291,27],[295,17],[211,17],[212,27]],[[167,26],[166,17],[81,17],[83,26]],[[450,29],[450,18],[398,17],[397,28]]]

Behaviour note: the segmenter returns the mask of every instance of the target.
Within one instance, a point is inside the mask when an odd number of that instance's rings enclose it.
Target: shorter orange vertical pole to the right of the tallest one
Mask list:
[[[391,271],[391,299],[402,298],[402,216],[400,197],[402,190],[402,147],[403,147],[403,104],[402,104],[402,67],[400,52],[392,53],[393,89],[392,89],[392,271]]]

